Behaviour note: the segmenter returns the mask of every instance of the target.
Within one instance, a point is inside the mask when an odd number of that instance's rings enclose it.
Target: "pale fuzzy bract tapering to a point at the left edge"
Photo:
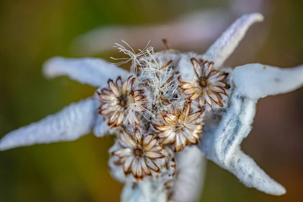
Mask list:
[[[14,130],[1,139],[0,150],[78,139],[88,134],[95,125],[98,105],[96,99],[87,98],[57,114]]]

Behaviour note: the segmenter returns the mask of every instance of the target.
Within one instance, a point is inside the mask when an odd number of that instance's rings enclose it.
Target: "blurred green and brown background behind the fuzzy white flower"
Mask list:
[[[138,36],[138,33],[143,33],[148,26],[166,27],[181,15],[208,12],[211,26],[194,26],[194,33],[189,28],[183,30],[185,35],[181,39],[179,32],[167,33],[167,29],[153,34],[154,41],[159,37],[156,44],[167,37],[175,44],[174,48],[203,53],[228,23],[254,10],[261,11],[266,20],[248,31],[226,65],[258,62],[291,67],[302,64],[301,1],[1,0],[0,136],[94,92],[94,88],[67,77],[46,80],[41,75],[43,62],[52,56],[88,55],[83,51],[85,48],[71,46],[80,34],[103,26],[121,25],[126,29],[136,26],[139,29],[129,30],[125,38],[139,48],[142,41],[146,43],[149,39],[146,34]],[[224,16],[220,16],[223,13]],[[215,14],[225,21],[218,23]],[[203,38],[207,32],[209,37]],[[202,37],[195,46],[186,42],[191,34]],[[102,37],[115,39],[113,34],[108,34],[94,40]],[[153,45],[153,41],[150,44]],[[110,60],[110,56],[118,56],[108,45],[101,46],[94,57]],[[156,45],[157,50],[161,48],[164,47]],[[254,128],[242,144],[247,154],[286,187],[285,195],[271,196],[246,188],[232,174],[209,162],[201,201],[302,201],[302,103],[302,88],[261,99]],[[90,134],[73,142],[2,151],[0,201],[119,201],[122,184],[111,178],[107,166],[107,151],[113,141],[113,136],[96,138]]]

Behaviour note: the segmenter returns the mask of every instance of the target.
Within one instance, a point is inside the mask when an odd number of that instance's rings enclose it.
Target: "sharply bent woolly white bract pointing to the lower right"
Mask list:
[[[285,188],[269,177],[250,157],[240,150],[240,144],[251,130],[256,112],[256,100],[231,94],[230,107],[219,122],[206,121],[200,149],[208,159],[233,173],[243,184],[272,195],[282,195]]]

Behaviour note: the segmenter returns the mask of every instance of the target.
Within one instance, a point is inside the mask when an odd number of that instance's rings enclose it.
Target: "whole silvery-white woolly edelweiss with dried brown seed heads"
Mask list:
[[[246,64],[234,69],[224,61],[247,29],[263,20],[259,13],[237,19],[203,55],[154,48],[126,54],[118,64],[101,59],[48,60],[47,77],[67,75],[98,87],[92,97],[21,127],[0,141],[0,149],[71,141],[88,134],[116,134],[109,167],[125,183],[122,201],[195,201],[203,187],[205,157],[233,173],[247,187],[281,195],[240,144],[251,130],[259,98],[303,85],[303,66],[280,69]]]

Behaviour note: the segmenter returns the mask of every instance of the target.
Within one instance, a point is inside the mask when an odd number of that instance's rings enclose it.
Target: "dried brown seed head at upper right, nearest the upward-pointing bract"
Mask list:
[[[224,73],[218,70],[213,70],[214,63],[204,61],[203,59],[197,60],[195,58],[190,59],[196,76],[193,82],[183,81],[179,77],[181,84],[179,87],[183,89],[185,95],[190,95],[190,100],[198,98],[200,106],[204,106],[205,102],[212,107],[212,100],[223,107],[222,97],[220,93],[227,95],[225,89],[229,88],[226,82],[223,82],[228,73]]]

